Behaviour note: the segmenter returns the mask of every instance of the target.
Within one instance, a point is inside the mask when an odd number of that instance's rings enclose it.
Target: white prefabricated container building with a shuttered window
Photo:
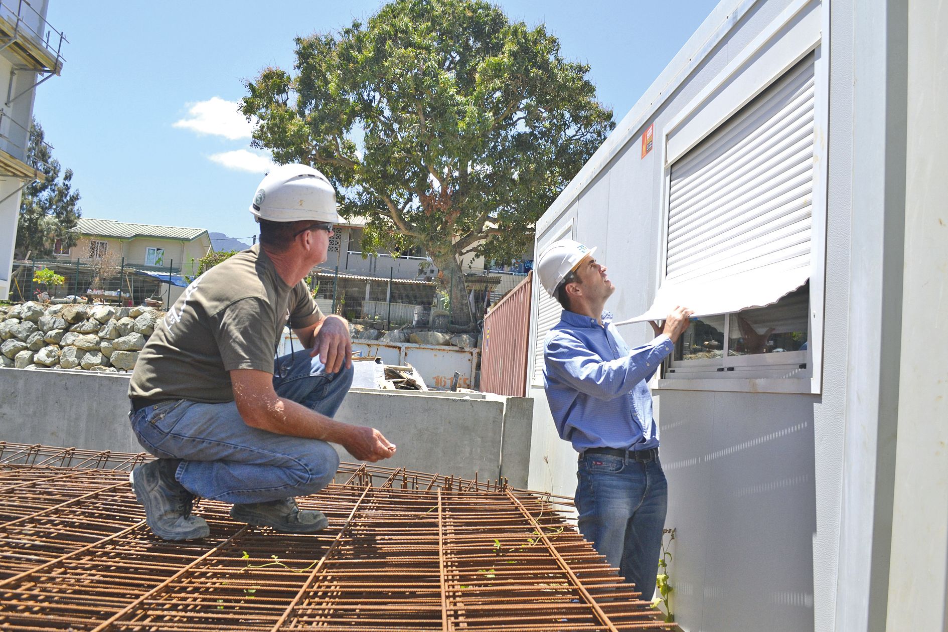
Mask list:
[[[616,320],[702,315],[651,383],[685,630],[948,629],[946,32],[723,0],[538,222],[598,246]],[[529,486],[572,496],[533,302]]]

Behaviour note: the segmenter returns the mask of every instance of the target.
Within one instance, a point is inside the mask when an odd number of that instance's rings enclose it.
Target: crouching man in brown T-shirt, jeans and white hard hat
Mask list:
[[[326,527],[295,496],[336,474],[342,445],[359,460],[395,452],[378,430],[332,419],[353,380],[349,325],[323,316],[303,278],[326,261],[336,192],[303,165],[264,177],[250,206],[260,244],[191,282],[155,327],[132,375],[132,429],[157,457],[130,477],[148,526],[165,540],[210,533],[195,496],[232,503],[241,522],[284,533]],[[302,349],[274,361],[286,324]]]

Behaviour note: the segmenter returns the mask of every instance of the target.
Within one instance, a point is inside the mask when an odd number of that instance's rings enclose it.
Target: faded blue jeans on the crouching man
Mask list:
[[[327,373],[302,350],[277,358],[273,388],[281,397],[332,417],[353,370]],[[280,376],[280,377],[277,377]],[[243,504],[315,494],[336,475],[336,449],[244,423],[237,405],[161,402],[130,415],[137,440],[159,459],[180,459],[175,478],[195,496]]]

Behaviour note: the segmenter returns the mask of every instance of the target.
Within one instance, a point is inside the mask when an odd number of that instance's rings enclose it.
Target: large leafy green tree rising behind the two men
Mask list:
[[[295,72],[246,84],[253,144],[327,174],[363,249],[424,247],[470,322],[462,257],[509,262],[609,134],[590,68],[542,25],[474,0],[395,0],[365,24],[296,39]]]

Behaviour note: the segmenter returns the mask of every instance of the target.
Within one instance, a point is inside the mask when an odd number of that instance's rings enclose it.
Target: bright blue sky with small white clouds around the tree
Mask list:
[[[249,129],[231,114],[244,81],[268,65],[291,68],[296,35],[336,30],[383,3],[49,4],[47,19],[69,44],[63,76],[37,89],[34,115],[75,172],[82,215],[249,242],[256,225],[247,206],[268,160],[250,153]],[[545,23],[564,57],[591,64],[618,122],[717,2],[497,4],[511,19]]]

